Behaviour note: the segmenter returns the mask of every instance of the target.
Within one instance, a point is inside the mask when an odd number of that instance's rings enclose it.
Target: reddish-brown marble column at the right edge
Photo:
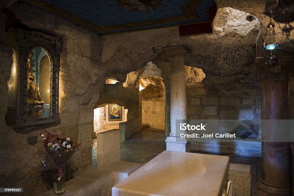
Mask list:
[[[282,55],[278,66],[271,72],[259,58],[255,64],[261,76],[261,118],[289,119],[289,73],[293,68],[292,55]],[[267,136],[276,129],[262,130]],[[258,196],[289,194],[289,142],[262,142],[262,177],[258,182]],[[276,148],[285,148],[268,151]]]

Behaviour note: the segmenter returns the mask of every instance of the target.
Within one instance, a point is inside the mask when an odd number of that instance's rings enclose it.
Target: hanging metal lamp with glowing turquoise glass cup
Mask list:
[[[278,44],[276,43],[275,39],[275,24],[273,23],[272,18],[270,18],[270,22],[266,27],[265,37],[268,35],[268,31],[272,30],[272,35],[269,36],[273,36],[273,42],[270,44],[266,44],[265,41],[263,42],[263,50],[266,50],[267,53],[264,55],[261,61],[269,66],[270,71],[273,72],[273,67],[278,65],[281,56],[278,55]]]

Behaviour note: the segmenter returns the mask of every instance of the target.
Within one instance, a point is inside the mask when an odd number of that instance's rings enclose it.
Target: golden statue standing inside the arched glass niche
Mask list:
[[[31,51],[28,58],[28,116],[29,118],[42,117],[45,112],[44,100],[41,99],[39,87],[35,83],[35,76],[33,68],[35,67],[35,60],[33,60],[34,53]]]

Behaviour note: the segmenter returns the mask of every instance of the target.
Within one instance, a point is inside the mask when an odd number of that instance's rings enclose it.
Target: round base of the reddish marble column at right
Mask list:
[[[257,184],[258,196],[288,196],[289,186],[275,186],[263,182],[262,179]]]

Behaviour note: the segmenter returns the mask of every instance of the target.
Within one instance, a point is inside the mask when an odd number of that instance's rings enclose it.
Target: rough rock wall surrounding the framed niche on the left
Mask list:
[[[38,195],[52,188],[53,181],[50,176],[52,177],[53,172],[49,165],[49,168],[41,166],[45,153],[39,131],[20,134],[5,123],[7,81],[12,65],[12,49],[4,44],[5,29],[13,23],[10,21],[13,16],[18,20],[16,25],[22,24],[23,28],[46,33],[63,41],[59,78],[61,124],[46,130],[60,137],[70,137],[75,143],[81,143],[71,164],[66,165],[66,180],[92,168],[93,103],[96,103],[106,79],[105,67],[97,66],[101,62],[103,41],[84,28],[27,4],[16,2],[11,6],[10,3],[0,6],[0,9],[5,9],[5,14],[0,13],[0,183],[3,187],[23,187],[22,195]],[[37,138],[34,145],[27,142],[29,137]]]

